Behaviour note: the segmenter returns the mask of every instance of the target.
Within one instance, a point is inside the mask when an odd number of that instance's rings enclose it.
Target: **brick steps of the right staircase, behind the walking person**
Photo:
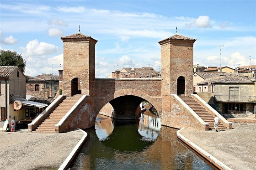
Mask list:
[[[204,122],[209,124],[209,130],[214,129],[214,116],[209,113],[203,105],[201,105],[197,99],[192,98],[191,96],[181,95],[179,96],[197,115],[203,119]],[[218,129],[227,129],[227,127],[220,122]]]

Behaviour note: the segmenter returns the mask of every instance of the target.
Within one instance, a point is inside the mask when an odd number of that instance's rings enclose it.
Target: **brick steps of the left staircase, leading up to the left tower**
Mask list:
[[[81,95],[66,97],[49,115],[37,126],[36,133],[55,133],[55,124],[64,117],[66,113],[81,98]]]

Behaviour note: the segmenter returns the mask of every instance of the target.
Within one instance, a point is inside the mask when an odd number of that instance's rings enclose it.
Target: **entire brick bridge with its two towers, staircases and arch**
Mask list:
[[[64,67],[59,70],[62,95],[29,124],[31,131],[61,133],[93,127],[97,114],[107,103],[113,107],[113,118],[134,119],[144,100],[155,107],[165,126],[208,130],[213,128],[213,118],[217,114],[223,123],[220,128],[231,128],[219,113],[197,95],[192,95],[196,39],[176,33],[159,41],[160,78],[133,78],[133,71],[132,78],[119,78],[117,69],[115,79],[95,78],[97,41],[91,36],[79,32],[61,37],[61,40],[64,43]],[[197,107],[192,108],[191,103]]]

